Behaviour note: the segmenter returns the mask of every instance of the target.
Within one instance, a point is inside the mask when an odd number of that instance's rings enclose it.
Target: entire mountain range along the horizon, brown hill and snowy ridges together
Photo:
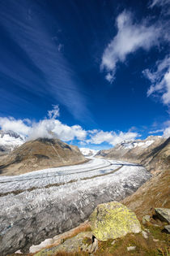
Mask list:
[[[5,170],[11,170],[12,167],[16,174],[20,173],[19,170],[21,169],[24,172],[81,163],[85,161],[83,156],[96,155],[99,158],[140,163],[147,167],[149,171],[159,171],[170,166],[169,140],[170,138],[150,136],[145,140],[122,141],[112,149],[97,151],[89,148],[78,149],[57,139],[52,141],[48,141],[48,139],[26,141],[26,137],[16,132],[1,130],[0,155],[2,156],[0,168],[4,172]],[[57,151],[55,151],[56,149]],[[59,152],[58,155],[57,152]]]

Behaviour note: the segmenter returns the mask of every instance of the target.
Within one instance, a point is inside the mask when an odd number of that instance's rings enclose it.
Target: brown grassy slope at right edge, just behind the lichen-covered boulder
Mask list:
[[[170,167],[166,171],[159,171],[132,195],[126,197],[122,203],[141,218],[154,214],[155,207],[170,208]]]

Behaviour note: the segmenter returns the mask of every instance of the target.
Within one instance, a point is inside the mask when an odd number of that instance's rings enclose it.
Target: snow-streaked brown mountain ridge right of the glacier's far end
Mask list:
[[[170,142],[159,136],[145,140],[123,141],[110,150],[100,150],[96,156],[140,163],[149,171],[159,171],[169,167]]]

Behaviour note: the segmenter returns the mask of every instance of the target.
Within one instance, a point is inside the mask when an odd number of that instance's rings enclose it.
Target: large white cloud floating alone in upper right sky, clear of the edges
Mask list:
[[[112,83],[118,62],[124,63],[126,56],[139,48],[150,50],[151,46],[158,43],[158,38],[159,28],[147,25],[146,20],[136,24],[132,14],[123,11],[117,16],[117,35],[113,37],[102,56],[100,68],[107,72],[105,78]]]

